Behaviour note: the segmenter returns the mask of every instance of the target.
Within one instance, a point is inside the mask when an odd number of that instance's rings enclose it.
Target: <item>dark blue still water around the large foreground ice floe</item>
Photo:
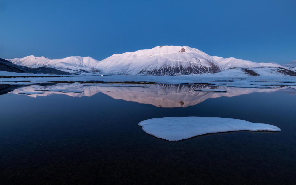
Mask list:
[[[163,108],[64,94],[0,96],[0,184],[296,184],[296,96],[282,91]],[[170,142],[142,120],[210,116],[268,123]]]

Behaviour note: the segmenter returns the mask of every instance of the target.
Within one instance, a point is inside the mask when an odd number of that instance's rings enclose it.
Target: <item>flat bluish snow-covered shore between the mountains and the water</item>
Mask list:
[[[7,77],[9,76],[13,77]],[[32,77],[32,74],[0,72],[0,83],[9,82],[88,82],[88,83],[155,83],[155,84],[208,84],[213,86],[234,86],[234,87],[260,87],[271,88],[270,86],[296,86],[296,77],[294,76],[210,76],[210,75],[179,75],[179,76],[151,76],[151,75],[38,75]],[[214,74],[213,74],[214,75]],[[49,77],[50,76],[50,77]]]

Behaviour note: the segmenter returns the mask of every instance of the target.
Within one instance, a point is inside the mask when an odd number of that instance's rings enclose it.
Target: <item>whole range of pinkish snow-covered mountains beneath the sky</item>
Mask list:
[[[236,58],[210,56],[188,46],[157,46],[152,49],[114,54],[102,61],[80,56],[51,59],[33,55],[10,59],[10,61],[28,67],[46,65],[72,73],[101,71],[105,74],[127,75],[183,75],[217,73],[234,67],[283,67],[272,63],[257,63]]]

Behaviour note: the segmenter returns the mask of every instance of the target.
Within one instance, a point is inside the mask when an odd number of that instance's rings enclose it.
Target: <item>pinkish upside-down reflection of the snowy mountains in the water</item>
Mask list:
[[[168,84],[150,84],[149,88],[141,87],[103,87],[103,86],[83,86],[78,83],[59,83],[57,85],[48,86],[50,89],[65,89],[65,90],[80,90],[83,93],[62,93],[45,91],[44,94],[28,95],[32,97],[48,96],[51,94],[66,94],[73,97],[93,96],[102,92],[114,99],[123,99],[126,101],[133,101],[143,104],[151,104],[157,107],[188,107],[196,105],[209,98],[218,98],[221,96],[232,97],[242,94],[250,94],[254,92],[275,92],[284,91],[289,94],[296,94],[296,89],[289,87],[281,87],[275,89],[261,89],[261,88],[237,88],[237,87],[222,87],[222,86],[208,86],[205,84],[194,85],[168,85]],[[34,91],[36,89],[44,88],[39,85],[31,85],[27,87],[20,87],[12,91],[18,94],[22,91]],[[215,93],[205,91],[194,91],[194,89],[226,89],[227,93]]]

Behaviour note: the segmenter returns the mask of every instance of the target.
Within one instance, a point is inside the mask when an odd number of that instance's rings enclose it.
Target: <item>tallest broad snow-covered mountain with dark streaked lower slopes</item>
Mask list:
[[[136,52],[114,54],[97,65],[105,73],[170,75],[216,73],[218,63],[208,54],[188,46],[157,46]]]

